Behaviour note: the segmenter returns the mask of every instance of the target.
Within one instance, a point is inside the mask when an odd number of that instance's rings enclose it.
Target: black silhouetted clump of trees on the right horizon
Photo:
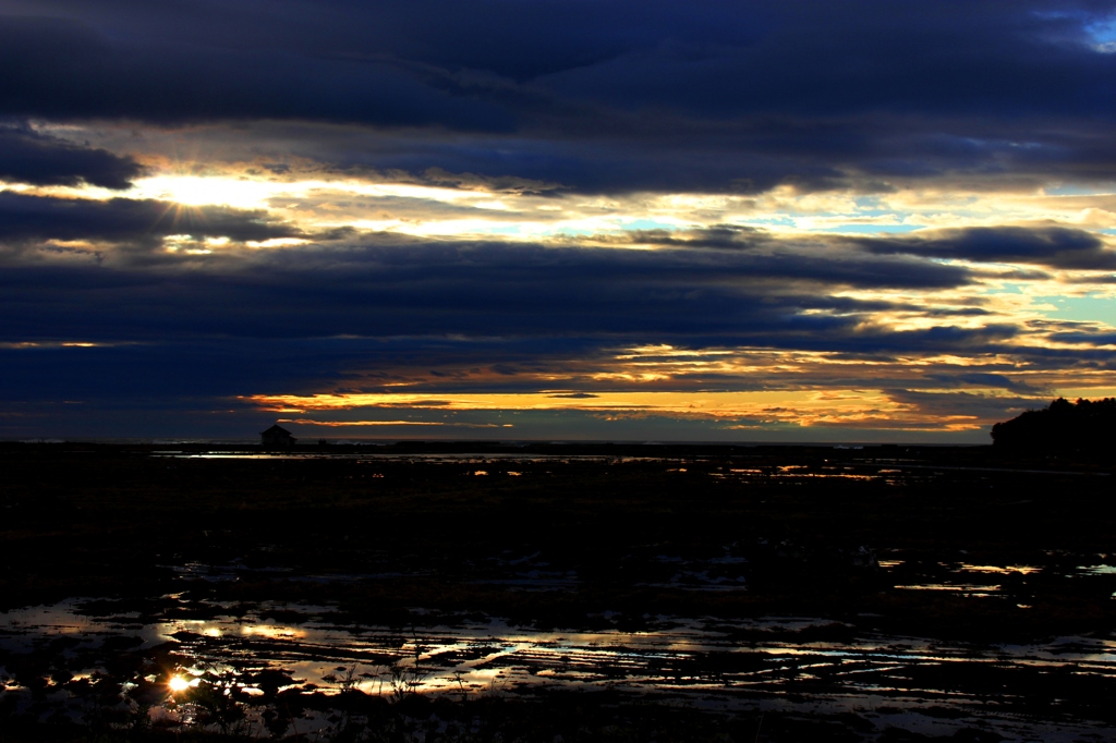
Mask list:
[[[1059,397],[1046,409],[997,423],[992,443],[1011,450],[1116,452],[1116,398],[1070,403]]]

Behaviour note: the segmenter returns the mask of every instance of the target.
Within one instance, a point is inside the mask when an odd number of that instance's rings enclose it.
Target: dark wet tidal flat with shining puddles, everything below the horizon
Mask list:
[[[0,735],[1116,740],[1110,462],[2,444]]]

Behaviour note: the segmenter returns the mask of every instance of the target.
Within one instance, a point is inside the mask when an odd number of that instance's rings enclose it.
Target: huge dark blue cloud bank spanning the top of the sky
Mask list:
[[[433,127],[307,134],[343,167],[741,192],[1116,170],[1110,1],[9,6],[52,18],[0,21],[0,113]]]

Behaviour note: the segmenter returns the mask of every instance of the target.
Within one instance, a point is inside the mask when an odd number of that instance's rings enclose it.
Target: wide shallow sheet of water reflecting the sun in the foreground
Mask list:
[[[923,734],[979,723],[1004,737],[1074,740],[1110,733],[1095,705],[1107,698],[1097,693],[1116,683],[1113,636],[973,645],[801,617],[660,617],[644,631],[543,631],[496,618],[423,624],[419,615],[401,628],[338,625],[328,619],[330,607],[300,605],[260,605],[240,616],[210,606],[212,618],[144,621],[135,612],[86,616],[89,604],[74,599],[0,615],[0,678],[10,677],[4,694],[30,703],[29,689],[41,682],[27,670],[28,659],[38,658],[55,669],[49,683],[61,703],[68,684],[58,683],[59,667],[73,678],[96,677],[115,652],[166,658],[173,667],[162,684],[171,675],[180,684],[219,678],[241,696],[263,695],[276,678],[304,694],[391,696],[408,678],[414,692],[435,696],[607,689],[694,708],[854,713]],[[110,602],[96,606],[102,612]],[[134,663],[134,683],[155,677],[150,663]],[[157,714],[181,713],[170,689],[157,706]],[[931,706],[937,712],[923,714]]]

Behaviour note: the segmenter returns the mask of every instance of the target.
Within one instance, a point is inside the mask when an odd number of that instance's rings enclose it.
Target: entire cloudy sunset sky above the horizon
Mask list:
[[[0,0],[0,438],[988,443],[1113,132],[1108,0]]]

